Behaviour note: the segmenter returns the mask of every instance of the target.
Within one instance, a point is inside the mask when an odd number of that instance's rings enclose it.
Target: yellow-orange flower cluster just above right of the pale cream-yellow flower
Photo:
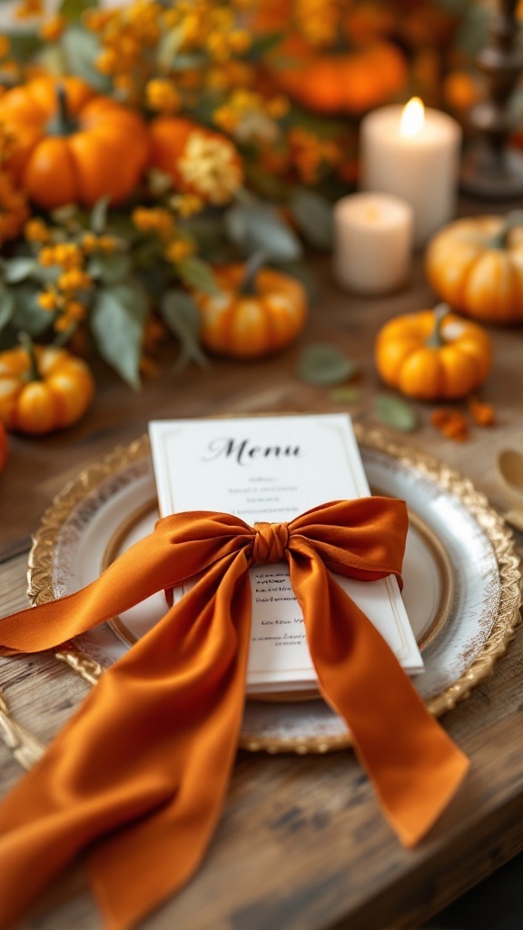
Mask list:
[[[213,122],[242,142],[274,142],[279,135],[275,120],[288,112],[288,100],[265,99],[254,90],[237,88],[213,113]]]

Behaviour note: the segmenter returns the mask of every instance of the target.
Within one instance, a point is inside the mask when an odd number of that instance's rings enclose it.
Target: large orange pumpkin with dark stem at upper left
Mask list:
[[[13,137],[6,163],[38,206],[121,203],[147,164],[146,126],[78,77],[38,77],[0,98],[0,122]]]

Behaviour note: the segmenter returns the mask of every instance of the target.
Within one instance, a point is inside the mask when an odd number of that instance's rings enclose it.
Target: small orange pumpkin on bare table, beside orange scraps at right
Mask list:
[[[418,400],[456,400],[487,378],[491,365],[488,334],[449,312],[404,313],[378,334],[376,367],[383,381]]]

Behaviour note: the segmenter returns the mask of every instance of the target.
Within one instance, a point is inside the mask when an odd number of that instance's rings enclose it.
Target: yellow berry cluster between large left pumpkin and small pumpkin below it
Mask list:
[[[25,238],[39,248],[38,261],[43,268],[59,271],[56,280],[37,295],[38,306],[56,313],[53,326],[57,332],[81,323],[86,318],[87,296],[93,288],[93,280],[86,271],[87,258],[96,251],[114,251],[114,238],[83,233],[78,242],[54,242],[44,220],[36,217],[25,224]]]

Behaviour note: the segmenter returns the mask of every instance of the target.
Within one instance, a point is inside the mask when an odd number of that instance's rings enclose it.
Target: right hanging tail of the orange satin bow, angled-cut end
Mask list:
[[[404,845],[415,845],[449,804],[469,762],[315,552],[293,551],[289,565],[320,690],[351,730],[385,817]]]

